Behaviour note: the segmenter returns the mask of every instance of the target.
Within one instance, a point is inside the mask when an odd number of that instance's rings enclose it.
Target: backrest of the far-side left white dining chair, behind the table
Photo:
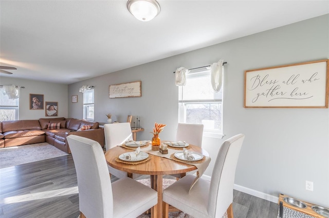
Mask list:
[[[130,123],[104,124],[104,135],[106,150],[133,139]]]

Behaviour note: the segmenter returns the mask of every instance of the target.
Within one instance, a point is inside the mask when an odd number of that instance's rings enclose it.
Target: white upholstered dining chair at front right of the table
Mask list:
[[[227,211],[233,217],[233,185],[235,169],[245,136],[238,134],[223,142],[215,161],[211,181],[200,178],[191,190],[195,176],[187,175],[165,190],[162,199],[168,217],[168,206],[193,216],[221,218]]]

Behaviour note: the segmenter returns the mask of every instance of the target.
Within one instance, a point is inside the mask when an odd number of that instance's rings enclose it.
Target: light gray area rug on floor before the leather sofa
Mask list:
[[[0,169],[68,155],[46,142],[0,148]]]

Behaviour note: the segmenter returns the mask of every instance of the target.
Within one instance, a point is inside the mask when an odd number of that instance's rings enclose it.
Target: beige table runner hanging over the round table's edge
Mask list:
[[[121,146],[121,145],[119,145]],[[126,148],[126,147],[125,147]],[[135,147],[131,147],[129,149],[135,150]],[[151,146],[148,147],[144,147],[144,148],[140,148],[140,151],[146,152],[148,154],[151,155],[155,155],[158,157],[162,157],[162,158],[167,158],[173,161],[177,161],[177,162],[182,162],[182,163],[186,163],[186,164],[190,164],[193,165],[197,168],[197,172],[196,172],[196,178],[194,179],[194,181],[192,182],[191,186],[190,186],[190,190],[192,189],[192,187],[194,186],[194,184],[199,180],[200,177],[202,177],[202,175],[204,174],[204,172],[206,171],[211,159],[210,157],[205,157],[205,161],[203,161],[202,163],[197,163],[197,162],[193,162],[193,161],[181,161],[178,160],[176,158],[174,158],[172,155],[175,154],[175,152],[177,152],[177,149],[172,149],[169,148],[168,146],[168,154],[161,154],[160,151],[158,150],[152,150]]]

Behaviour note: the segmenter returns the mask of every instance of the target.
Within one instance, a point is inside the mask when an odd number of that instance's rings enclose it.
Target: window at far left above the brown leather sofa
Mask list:
[[[0,121],[19,119],[19,98],[9,99],[0,88]]]

